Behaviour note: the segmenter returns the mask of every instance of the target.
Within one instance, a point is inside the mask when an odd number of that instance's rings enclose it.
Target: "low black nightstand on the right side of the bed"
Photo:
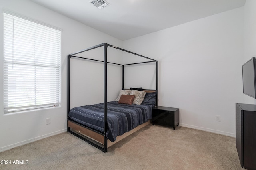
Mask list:
[[[156,106],[152,108],[152,124],[173,127],[179,126],[180,109],[174,107]]]

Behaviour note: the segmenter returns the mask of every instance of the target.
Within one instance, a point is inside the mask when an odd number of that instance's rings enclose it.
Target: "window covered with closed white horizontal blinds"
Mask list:
[[[4,112],[60,104],[60,34],[4,13]]]

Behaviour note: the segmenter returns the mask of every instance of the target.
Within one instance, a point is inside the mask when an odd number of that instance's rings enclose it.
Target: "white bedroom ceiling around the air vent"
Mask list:
[[[31,0],[120,40],[128,40],[244,6],[246,0]]]

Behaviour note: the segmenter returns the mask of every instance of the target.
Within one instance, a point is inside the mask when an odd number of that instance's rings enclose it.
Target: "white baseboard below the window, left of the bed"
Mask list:
[[[0,148],[0,152],[4,152],[6,150],[9,150],[9,149],[12,149],[12,148],[15,148],[17,146],[22,146],[24,144],[28,144],[28,143],[31,143],[31,142],[35,142],[36,140],[40,140],[40,139],[43,139],[43,138],[47,138],[47,137],[50,137],[50,136],[54,136],[56,134],[60,134],[60,133],[63,133],[63,132],[66,132],[67,129],[63,129],[63,130],[58,130],[56,132],[52,132],[52,133],[49,133],[49,134],[45,134],[45,135],[42,135],[42,136],[38,136],[36,138],[32,138],[32,139],[29,139],[29,140],[24,140],[22,142],[18,142],[18,143],[15,143],[15,144],[11,144],[11,145],[8,145],[8,146],[4,146],[2,148]]]

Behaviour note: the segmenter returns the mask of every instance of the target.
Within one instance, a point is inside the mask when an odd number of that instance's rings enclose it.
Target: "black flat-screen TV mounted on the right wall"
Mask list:
[[[252,57],[244,65],[243,70],[243,93],[256,99],[256,74],[255,57]]]

